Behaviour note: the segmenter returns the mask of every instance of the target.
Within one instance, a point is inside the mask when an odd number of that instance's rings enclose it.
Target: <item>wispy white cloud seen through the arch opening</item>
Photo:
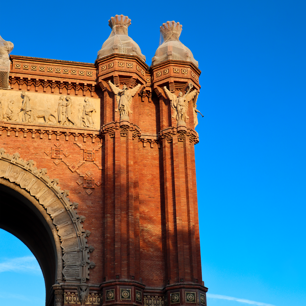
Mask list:
[[[41,269],[34,256],[8,259],[0,263],[0,272],[21,272],[41,274]]]

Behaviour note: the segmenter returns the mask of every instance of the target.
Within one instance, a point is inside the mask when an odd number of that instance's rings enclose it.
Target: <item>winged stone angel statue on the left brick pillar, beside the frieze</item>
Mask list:
[[[110,88],[116,95],[116,100],[118,103],[118,108],[115,109],[116,112],[119,110],[120,119],[122,116],[129,117],[129,113],[133,113],[130,109],[132,103],[132,97],[136,94],[137,90],[140,88],[140,84],[137,84],[134,88],[127,88],[123,85],[122,89],[116,87],[111,81],[108,81]]]

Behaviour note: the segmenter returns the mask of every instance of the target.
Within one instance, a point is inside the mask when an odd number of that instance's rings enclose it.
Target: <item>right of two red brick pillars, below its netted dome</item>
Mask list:
[[[191,294],[197,292],[198,304],[200,296],[203,297],[207,291],[201,273],[194,159],[194,144],[199,140],[193,124],[192,100],[188,103],[186,126],[177,126],[176,118],[172,118],[174,110],[163,87],[178,96],[180,91],[183,94],[187,92],[191,82],[192,89],[200,91],[200,71],[191,63],[168,61],[154,66],[150,72],[152,91],[159,99],[160,111],[168,303],[173,304],[175,298],[179,298],[179,304],[188,304],[186,296],[191,290]]]

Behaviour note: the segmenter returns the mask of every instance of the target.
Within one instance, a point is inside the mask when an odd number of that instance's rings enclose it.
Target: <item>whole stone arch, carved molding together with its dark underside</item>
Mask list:
[[[45,277],[46,304],[50,304],[53,297],[52,285],[85,283],[89,279],[86,238],[90,232],[83,229],[81,221],[84,217],[75,210],[78,203],[71,202],[67,197],[69,191],[62,190],[57,179],[50,179],[47,169],[38,170],[33,160],[24,161],[18,153],[6,154],[3,148],[0,149],[0,187],[1,227],[25,242],[37,258]],[[29,224],[31,220],[32,224]],[[40,222],[43,227],[35,222]],[[38,233],[39,229],[41,232]],[[39,250],[39,245],[44,249]],[[49,254],[51,249],[54,256]],[[48,255],[49,259],[44,258]],[[48,270],[48,264],[53,267],[53,272],[49,271],[51,268]]]

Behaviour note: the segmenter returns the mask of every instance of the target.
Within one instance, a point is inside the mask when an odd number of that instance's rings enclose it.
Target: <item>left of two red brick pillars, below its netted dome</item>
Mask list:
[[[118,66],[118,62],[123,66]],[[127,65],[129,63],[129,65]],[[111,64],[111,65],[110,65]],[[147,66],[136,57],[116,55],[96,62],[97,83],[103,91],[103,137],[105,145],[105,208],[104,208],[104,275],[100,290],[101,303],[121,303],[122,290],[131,290],[132,303],[136,291],[143,294],[140,273],[140,215],[138,182],[138,128],[137,105],[141,96],[133,97],[129,121],[120,121],[116,96],[110,80],[122,89],[123,84],[133,88],[145,85]],[[114,291],[113,291],[114,290]],[[122,291],[123,292],[123,291]],[[113,299],[109,299],[114,293]],[[122,293],[123,294],[123,293]],[[142,295],[141,295],[142,296]],[[129,298],[125,298],[129,302]]]

